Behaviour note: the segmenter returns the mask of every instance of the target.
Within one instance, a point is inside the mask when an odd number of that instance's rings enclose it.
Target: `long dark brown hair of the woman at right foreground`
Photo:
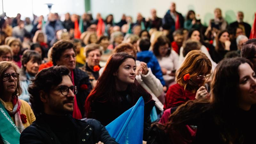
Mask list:
[[[235,119],[239,95],[238,67],[243,63],[248,63],[251,68],[253,67],[251,62],[244,58],[220,61],[212,78],[210,100],[190,100],[175,110],[169,117],[169,122],[164,125],[155,125],[171,135],[173,130],[177,130],[181,125],[200,119],[203,113],[212,111],[214,124],[220,128],[221,139],[227,143],[233,141],[236,135]]]

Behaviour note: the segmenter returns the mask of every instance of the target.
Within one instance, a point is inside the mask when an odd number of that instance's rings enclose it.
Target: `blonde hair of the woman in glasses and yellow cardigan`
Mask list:
[[[14,68],[14,71],[16,73],[20,72],[20,69],[13,61],[1,61],[0,62],[1,85],[3,84],[2,75],[8,68]],[[3,87],[3,85],[1,86],[1,89],[2,89],[2,87]],[[21,85],[20,85],[20,77],[18,77],[17,88],[16,88],[15,92],[13,93],[13,95],[19,96],[19,95],[21,95],[21,93],[22,93],[22,89],[21,89]]]

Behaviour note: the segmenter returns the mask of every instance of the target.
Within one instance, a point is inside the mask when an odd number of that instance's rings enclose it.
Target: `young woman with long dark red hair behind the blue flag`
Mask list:
[[[112,55],[85,102],[87,118],[108,125],[126,110],[144,99],[144,138],[150,127],[150,111],[155,105],[151,95],[135,79],[135,58],[127,53]]]

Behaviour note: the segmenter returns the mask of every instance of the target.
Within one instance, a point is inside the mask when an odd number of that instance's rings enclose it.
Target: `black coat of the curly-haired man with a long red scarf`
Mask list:
[[[77,105],[81,111],[82,117],[85,117],[84,104],[87,96],[92,91],[92,85],[90,83],[89,76],[87,75],[86,72],[82,71],[79,68],[75,68],[73,72],[74,72],[75,85],[77,87],[77,94],[76,94]],[[87,85],[87,89],[84,89],[81,87],[81,85],[83,84]]]

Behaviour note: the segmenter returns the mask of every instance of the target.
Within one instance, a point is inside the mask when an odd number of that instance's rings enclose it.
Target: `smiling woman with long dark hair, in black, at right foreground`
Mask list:
[[[252,68],[244,58],[220,61],[211,81],[211,98],[188,101],[178,107],[168,123],[152,127],[147,144],[164,140],[174,144],[173,134],[185,135],[180,129],[185,124],[197,126],[193,144],[256,143],[256,76]]]

